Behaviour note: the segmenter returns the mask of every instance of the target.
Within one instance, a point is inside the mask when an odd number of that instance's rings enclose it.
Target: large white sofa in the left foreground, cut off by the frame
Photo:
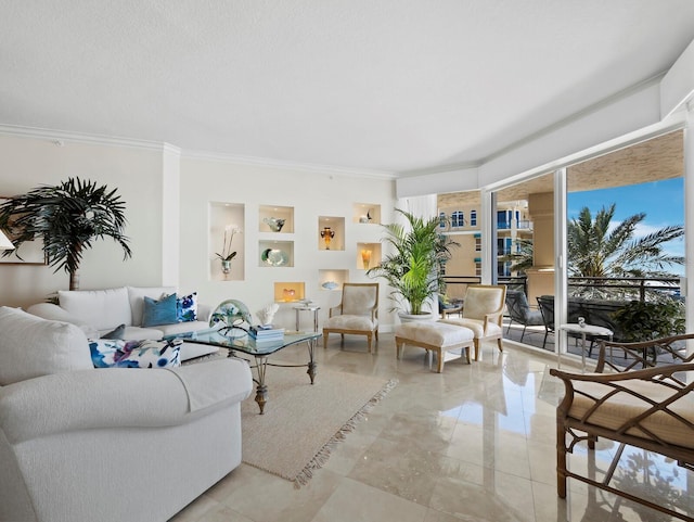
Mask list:
[[[252,385],[221,357],[95,369],[77,326],[0,307],[0,521],[165,522],[241,463]]]

